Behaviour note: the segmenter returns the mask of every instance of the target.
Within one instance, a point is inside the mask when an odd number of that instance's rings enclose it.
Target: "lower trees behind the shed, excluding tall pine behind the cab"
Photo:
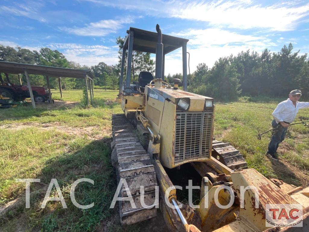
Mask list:
[[[117,67],[115,65],[109,66],[104,62],[97,65],[88,67],[80,65],[74,61],[68,61],[66,57],[57,50],[50,48],[42,48],[40,51],[31,51],[23,49],[19,46],[16,48],[10,46],[0,45],[0,61],[17,62],[34,65],[44,65],[62,68],[74,69],[90,69],[94,75],[94,88],[109,88],[116,89],[118,86]],[[30,75],[32,85],[46,86],[46,79],[42,75]],[[9,75],[12,83],[19,83],[17,75]],[[54,77],[49,78],[50,87],[58,88],[57,79]],[[25,76],[22,77],[23,84],[26,84]],[[84,87],[83,79],[76,78],[62,78],[61,85],[63,89],[82,89]]]

